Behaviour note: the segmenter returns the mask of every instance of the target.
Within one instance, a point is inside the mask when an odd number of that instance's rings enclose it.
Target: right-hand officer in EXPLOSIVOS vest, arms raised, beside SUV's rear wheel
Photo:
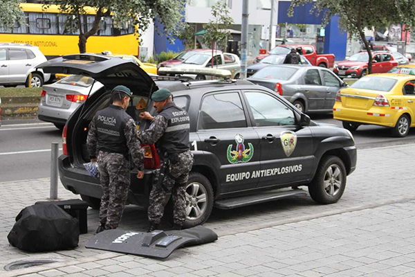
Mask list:
[[[150,193],[148,231],[158,228],[170,193],[174,204],[174,229],[181,230],[186,219],[185,190],[193,165],[189,148],[190,118],[185,110],[172,102],[172,93],[168,89],[155,91],[151,99],[158,115],[153,117],[147,111],[140,114],[140,118],[152,122],[149,129],[138,134],[138,138],[142,143],[156,143],[163,166],[156,174]]]

